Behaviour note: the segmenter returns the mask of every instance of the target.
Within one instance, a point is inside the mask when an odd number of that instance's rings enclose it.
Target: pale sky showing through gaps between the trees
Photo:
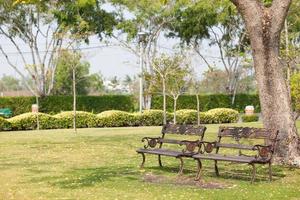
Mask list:
[[[113,7],[109,4],[104,5],[104,9],[107,11],[112,11]],[[125,16],[127,18],[133,17],[130,13],[125,11]],[[19,41],[21,44],[21,41]],[[39,49],[43,51],[44,41],[40,41]],[[165,53],[172,53],[172,48],[174,45],[178,44],[178,39],[167,39],[165,37],[159,38],[159,49]],[[26,74],[24,67],[22,67],[22,61],[20,55],[16,54],[16,49],[12,46],[7,39],[0,36],[0,45],[3,46],[6,52],[8,52],[13,64],[19,65],[19,69]],[[24,45],[21,46],[21,51],[29,51]],[[98,73],[100,72],[104,78],[109,79],[113,76],[123,78],[126,75],[134,76],[139,74],[139,58],[136,57],[129,50],[120,46],[104,46],[103,42],[100,42],[99,38],[92,37],[90,39],[90,44],[87,46],[82,44],[80,48],[83,48],[82,53],[84,59],[90,63],[90,72]],[[86,48],[86,49],[85,49]],[[209,46],[208,41],[204,41],[202,44],[201,52],[207,57],[210,63],[215,63],[218,65],[220,60],[216,57],[220,57],[218,50],[214,46]],[[30,54],[26,54],[25,57],[29,57]],[[192,57],[192,67],[198,77],[207,70],[206,64],[198,56]],[[8,65],[5,57],[0,52],[0,77],[3,75],[12,75],[18,77],[17,73]]]

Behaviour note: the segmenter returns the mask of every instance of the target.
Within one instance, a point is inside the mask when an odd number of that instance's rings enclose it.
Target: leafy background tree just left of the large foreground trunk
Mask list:
[[[177,20],[169,25],[169,36],[191,46],[211,71],[216,64],[203,54],[201,43],[208,39],[209,45],[218,49],[219,57],[214,60],[220,61],[217,67],[226,73],[225,92],[232,95],[233,104],[248,46],[244,24],[236,9],[229,1],[194,1],[179,7],[175,14]]]

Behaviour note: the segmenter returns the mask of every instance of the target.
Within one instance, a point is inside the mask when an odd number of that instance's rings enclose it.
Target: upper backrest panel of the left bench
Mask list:
[[[206,127],[202,125],[176,125],[166,124],[162,128],[162,134],[178,134],[178,135],[196,135],[203,137],[206,131]]]

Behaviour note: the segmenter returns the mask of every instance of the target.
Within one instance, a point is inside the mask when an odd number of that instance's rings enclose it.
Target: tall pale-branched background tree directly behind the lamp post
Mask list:
[[[166,24],[174,20],[173,10],[183,2],[161,0],[110,0],[118,9],[119,18],[114,38],[118,43],[137,57],[143,56],[144,74],[153,73],[153,60],[159,56],[159,38],[164,37]],[[128,12],[133,17],[126,17]],[[143,49],[138,48],[138,33],[147,33]],[[142,55],[141,55],[142,54]],[[149,85],[144,84],[144,105],[150,109],[151,95],[147,93]]]

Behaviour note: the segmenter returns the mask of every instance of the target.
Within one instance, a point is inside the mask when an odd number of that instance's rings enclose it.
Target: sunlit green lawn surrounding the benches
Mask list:
[[[207,126],[207,140],[216,138],[218,126]],[[163,158],[161,169],[155,156],[147,156],[145,169],[139,170],[141,157],[135,149],[142,146],[140,139],[157,136],[160,129],[79,129],[77,135],[72,130],[2,132],[0,199],[300,199],[300,170],[288,167],[275,166],[271,183],[267,168],[259,167],[251,185],[247,165],[220,163],[221,176],[216,177],[213,163],[204,162],[203,183],[223,189],[178,183],[195,176],[192,159],[186,160],[182,177],[174,158]],[[147,181],[149,176],[162,181]]]

